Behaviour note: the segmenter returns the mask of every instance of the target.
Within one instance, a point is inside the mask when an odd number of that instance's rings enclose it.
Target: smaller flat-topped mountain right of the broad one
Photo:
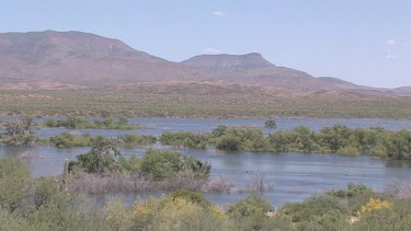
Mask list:
[[[306,72],[286,67],[277,67],[261,54],[247,55],[201,55],[181,62],[184,66],[213,72],[217,79],[292,91],[338,90],[341,82],[327,78],[315,78]],[[355,84],[351,83],[353,88]]]

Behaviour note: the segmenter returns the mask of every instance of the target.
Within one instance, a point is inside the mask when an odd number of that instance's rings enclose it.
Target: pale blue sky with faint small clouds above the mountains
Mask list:
[[[0,0],[0,32],[45,30],[173,61],[258,51],[316,77],[411,85],[411,0]]]

